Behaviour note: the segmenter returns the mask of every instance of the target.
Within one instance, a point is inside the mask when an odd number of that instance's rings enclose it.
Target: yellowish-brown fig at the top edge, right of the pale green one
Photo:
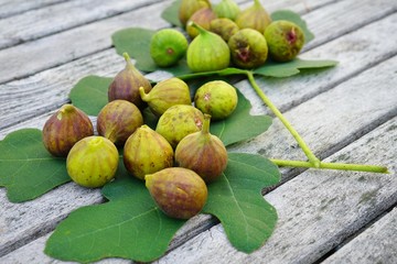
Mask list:
[[[264,34],[271,19],[259,0],[254,0],[254,4],[243,10],[235,20],[239,29],[253,29]]]

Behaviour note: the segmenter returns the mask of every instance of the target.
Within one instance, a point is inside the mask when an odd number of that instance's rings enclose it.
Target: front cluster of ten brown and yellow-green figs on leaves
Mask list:
[[[44,146],[52,155],[66,157],[71,178],[89,188],[112,180],[122,162],[133,177],[146,182],[165,215],[189,219],[204,207],[206,185],[226,168],[225,145],[211,134],[210,123],[235,111],[236,89],[214,80],[191,98],[182,79],[152,86],[128,54],[124,57],[126,67],[109,85],[108,103],[98,113],[97,133],[88,116],[67,103],[44,124]],[[155,129],[144,123],[147,108],[158,119]]]

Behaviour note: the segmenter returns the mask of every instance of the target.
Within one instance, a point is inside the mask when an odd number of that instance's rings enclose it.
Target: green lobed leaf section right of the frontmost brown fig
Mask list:
[[[264,199],[261,189],[279,182],[280,173],[270,161],[229,153],[224,175],[208,185],[203,211],[221,220],[237,250],[251,253],[270,238],[277,223],[276,209]]]

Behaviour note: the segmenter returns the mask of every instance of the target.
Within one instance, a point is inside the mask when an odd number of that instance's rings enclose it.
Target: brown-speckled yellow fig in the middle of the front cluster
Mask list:
[[[160,117],[155,131],[164,136],[172,147],[176,147],[183,138],[200,131],[203,121],[203,113],[195,107],[176,105]]]

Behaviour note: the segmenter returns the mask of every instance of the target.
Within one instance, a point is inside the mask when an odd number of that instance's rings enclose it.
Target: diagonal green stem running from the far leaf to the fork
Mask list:
[[[316,168],[320,167],[320,160],[313,154],[313,152],[310,150],[310,147],[307,145],[307,143],[303,141],[303,139],[300,136],[298,131],[290,124],[290,122],[282,116],[282,113],[278,110],[278,108],[270,101],[270,99],[265,95],[265,92],[259,88],[257,82],[254,78],[254,73],[247,70],[246,72],[248,80],[250,85],[253,86],[254,90],[257,92],[257,95],[260,97],[260,99],[270,108],[270,110],[275,113],[275,116],[282,122],[282,124],[288,129],[288,131],[292,134],[292,136],[298,142],[299,146],[302,148],[307,157],[309,158],[309,162]]]

